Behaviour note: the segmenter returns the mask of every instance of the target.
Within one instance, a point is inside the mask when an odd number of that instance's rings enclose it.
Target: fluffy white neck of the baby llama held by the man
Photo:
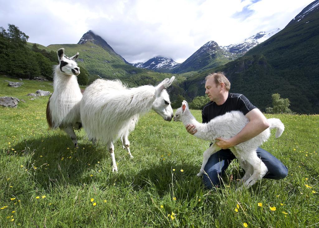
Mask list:
[[[193,124],[195,126],[197,132],[194,134],[194,136],[199,139],[211,141],[211,137],[208,136],[207,124],[199,123],[188,109],[185,110],[185,113],[183,114],[181,120],[184,126],[188,124]]]

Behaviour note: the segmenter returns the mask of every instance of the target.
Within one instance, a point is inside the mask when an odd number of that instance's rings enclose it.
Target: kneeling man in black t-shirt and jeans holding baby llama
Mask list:
[[[216,144],[221,148],[209,158],[204,171],[204,185],[211,189],[213,186],[220,185],[221,175],[225,172],[230,162],[235,159],[234,154],[229,150],[241,142],[254,138],[269,127],[268,121],[263,113],[252,105],[249,100],[242,94],[229,93],[230,82],[222,72],[209,74],[206,78],[205,94],[211,100],[202,110],[203,123],[223,115],[226,112],[239,110],[248,119],[248,124],[230,139],[217,138]],[[195,134],[197,130],[194,125],[186,125],[187,132]],[[282,179],[288,175],[288,169],[271,153],[258,148],[257,155],[265,163],[268,173],[264,178]]]

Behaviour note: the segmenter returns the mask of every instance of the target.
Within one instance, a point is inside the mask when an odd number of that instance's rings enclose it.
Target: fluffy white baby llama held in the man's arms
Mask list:
[[[277,129],[276,138],[278,138],[285,129],[285,126],[279,119],[271,118],[267,120],[270,125],[269,128],[256,137],[230,148],[238,159],[240,166],[245,170],[245,175],[241,178],[241,181],[243,181],[241,188],[249,188],[255,184],[257,180],[262,179],[263,176],[266,175],[268,168],[257,156],[256,149],[268,140],[270,137],[270,129]],[[174,121],[181,121],[185,126],[187,124],[194,124],[197,130],[194,136],[213,142],[204,152],[203,164],[197,176],[203,175],[204,167],[209,157],[220,150],[215,144],[215,139],[218,137],[230,139],[239,133],[249,122],[248,118],[246,118],[241,111],[231,111],[211,119],[208,123],[201,124],[191,114],[186,101],[183,101],[182,107],[176,111]]]

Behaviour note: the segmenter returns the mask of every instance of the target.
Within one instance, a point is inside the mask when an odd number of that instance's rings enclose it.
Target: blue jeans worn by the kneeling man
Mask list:
[[[268,168],[268,173],[263,178],[279,180],[288,175],[287,167],[271,153],[258,147],[257,155]],[[207,189],[211,189],[212,186],[220,186],[221,176],[235,158],[229,149],[221,149],[211,155],[204,168],[208,176],[205,172],[203,174],[203,182]]]

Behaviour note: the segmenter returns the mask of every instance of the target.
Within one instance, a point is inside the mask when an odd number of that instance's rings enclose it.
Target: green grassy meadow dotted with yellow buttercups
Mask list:
[[[285,179],[235,192],[242,170],[234,161],[224,185],[206,190],[196,174],[209,144],[181,123],[153,111],[140,118],[129,137],[134,159],[117,142],[112,173],[106,148],[83,130],[78,149],[48,131],[48,97],[26,94],[52,92],[52,82],[10,88],[4,80],[17,81],[1,76],[0,96],[25,103],[0,107],[0,227],[319,227],[318,115],[266,115],[286,127],[262,146],[288,167]]]

